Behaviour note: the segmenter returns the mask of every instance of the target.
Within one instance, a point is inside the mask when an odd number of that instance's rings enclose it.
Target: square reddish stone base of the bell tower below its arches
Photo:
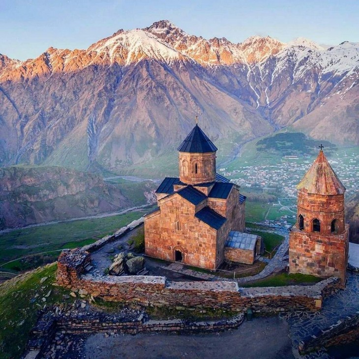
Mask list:
[[[306,233],[294,226],[289,234],[290,273],[335,276],[344,286],[348,265],[348,231],[347,225],[344,233],[326,236]]]

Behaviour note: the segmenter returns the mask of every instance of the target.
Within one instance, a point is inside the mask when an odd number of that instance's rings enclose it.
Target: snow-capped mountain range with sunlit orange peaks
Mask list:
[[[285,126],[359,144],[358,77],[359,43],[235,44],[166,20],[87,50],[0,55],[0,164],[119,170],[174,148],[196,115],[224,148]]]

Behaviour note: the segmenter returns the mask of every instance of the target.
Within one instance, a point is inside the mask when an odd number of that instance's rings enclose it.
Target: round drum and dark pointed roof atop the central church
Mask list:
[[[197,123],[177,149],[179,180],[186,184],[214,182],[217,148]]]

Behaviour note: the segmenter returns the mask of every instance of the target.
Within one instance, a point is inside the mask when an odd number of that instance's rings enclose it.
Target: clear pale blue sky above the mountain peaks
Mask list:
[[[167,19],[190,34],[241,42],[359,42],[359,0],[0,0],[0,53],[35,58],[50,46],[86,49],[119,29]]]

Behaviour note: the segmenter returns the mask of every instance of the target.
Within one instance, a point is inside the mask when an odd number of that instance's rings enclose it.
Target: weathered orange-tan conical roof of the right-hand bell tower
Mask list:
[[[336,195],[345,192],[343,183],[336,176],[322,150],[319,151],[318,157],[297,188],[307,193],[322,195]]]

